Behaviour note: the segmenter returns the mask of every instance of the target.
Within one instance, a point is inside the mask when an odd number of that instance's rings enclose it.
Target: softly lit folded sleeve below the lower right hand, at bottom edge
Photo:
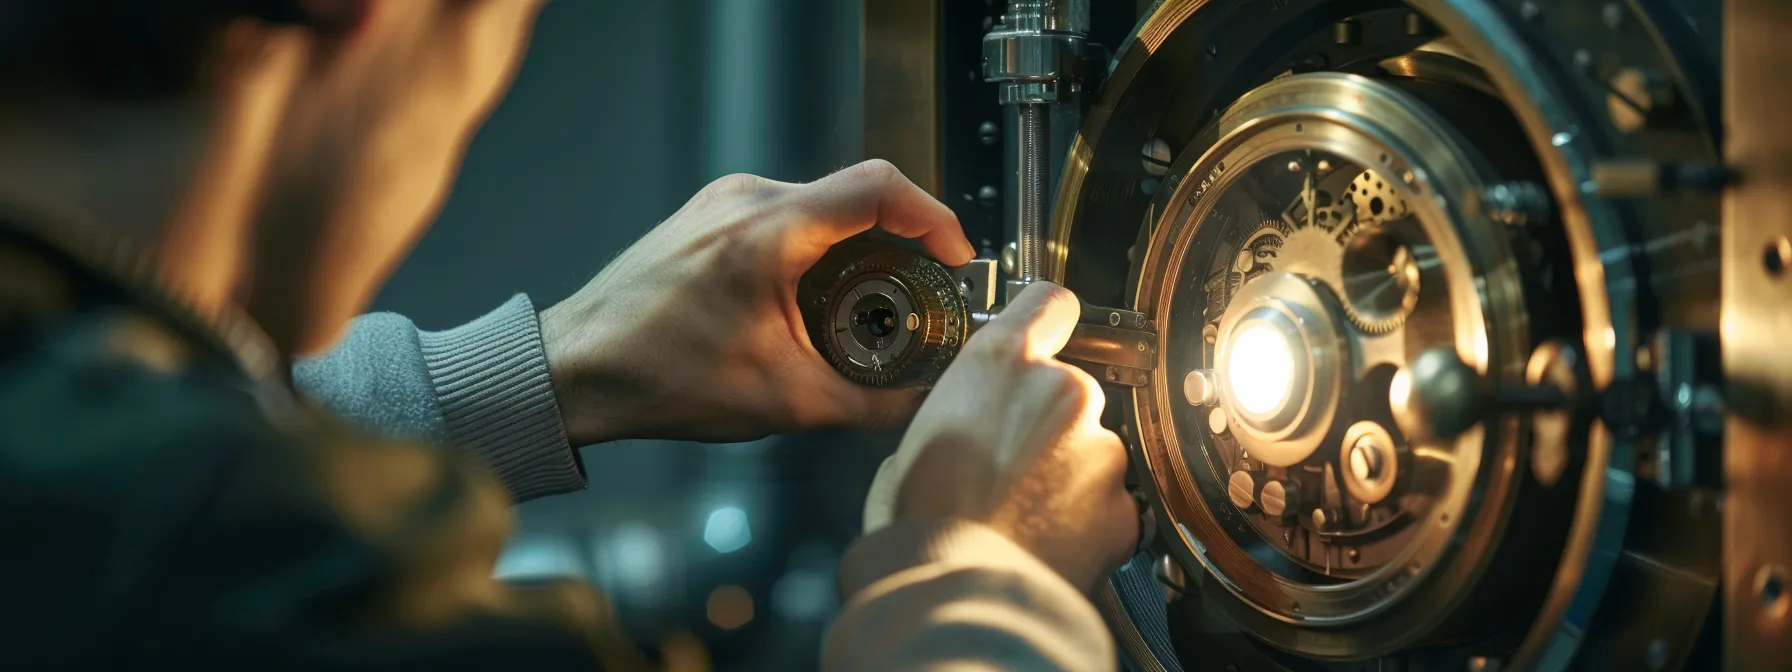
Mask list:
[[[1113,670],[1090,600],[975,523],[896,523],[848,550],[824,670]]]

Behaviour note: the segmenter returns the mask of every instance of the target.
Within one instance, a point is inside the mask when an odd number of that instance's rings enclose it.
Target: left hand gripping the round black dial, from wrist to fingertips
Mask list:
[[[803,272],[873,226],[919,238],[946,265],[975,256],[952,210],[887,161],[810,185],[729,176],[706,186],[541,314],[568,437],[749,441],[909,418],[918,392],[840,376],[797,312]]]

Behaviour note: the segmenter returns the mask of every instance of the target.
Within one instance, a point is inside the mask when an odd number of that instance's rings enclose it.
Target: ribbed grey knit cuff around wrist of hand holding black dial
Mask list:
[[[452,444],[496,470],[518,502],[584,487],[529,296],[418,339]]]

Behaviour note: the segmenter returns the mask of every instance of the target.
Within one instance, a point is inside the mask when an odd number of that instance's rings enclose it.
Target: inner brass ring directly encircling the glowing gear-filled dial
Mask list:
[[[1349,111],[1344,111],[1346,108]],[[1383,124],[1389,122],[1389,118],[1400,122],[1401,127],[1409,127],[1412,138],[1396,138],[1383,131]],[[1487,337],[1489,328],[1500,326],[1500,319],[1496,315],[1523,315],[1521,297],[1516,296],[1516,292],[1500,290],[1502,287],[1516,287],[1516,278],[1511,276],[1516,267],[1511,263],[1503,238],[1487,235],[1477,237],[1477,233],[1498,231],[1498,228],[1493,226],[1493,222],[1484,220],[1484,217],[1478,217],[1478,213],[1462,213],[1452,208],[1446,199],[1425,197],[1426,194],[1435,195],[1439,190],[1475,192],[1478,186],[1484,186],[1489,177],[1475,161],[1443,165],[1423,159],[1425,156],[1475,154],[1462,143],[1455,142],[1448,129],[1426,124],[1426,116],[1416,102],[1409,102],[1398,90],[1357,75],[1296,75],[1265,84],[1240,99],[1233,109],[1222,116],[1220,133],[1222,138],[1219,143],[1195,161],[1193,168],[1188,172],[1190,176],[1202,176],[1202,179],[1185,179],[1172,194],[1159,195],[1159,202],[1165,202],[1163,220],[1167,224],[1158,226],[1152,246],[1142,262],[1145,271],[1136,290],[1136,306],[1143,312],[1154,314],[1156,323],[1165,332],[1172,328],[1168,301],[1174,292],[1174,281],[1152,281],[1152,278],[1172,278],[1176,276],[1172,269],[1179,269],[1183,265],[1188,242],[1195,231],[1199,231],[1199,222],[1204,220],[1204,208],[1211,206],[1211,201],[1202,199],[1202,195],[1220,194],[1231,176],[1242,174],[1247,165],[1256,163],[1253,159],[1254,156],[1324,145],[1326,151],[1339,152],[1342,158],[1364,167],[1394,170],[1394,174],[1414,174],[1410,185],[1401,183],[1396,188],[1407,192],[1407,197],[1414,202],[1416,210],[1423,210],[1423,217],[1419,219],[1425,222],[1426,235],[1432,238],[1432,244],[1441,253],[1462,260],[1462,263],[1444,265],[1444,271],[1452,276],[1448,283],[1452,294],[1450,303],[1457,306],[1452,310],[1455,323],[1459,323],[1453,330],[1457,333],[1457,348],[1464,349],[1464,355],[1468,355],[1466,358],[1495,375],[1523,375],[1521,369],[1525,355],[1529,353],[1529,342],[1525,342],[1527,339],[1520,335],[1521,323],[1518,332],[1512,332],[1512,324],[1505,324],[1503,332],[1498,332],[1503,333],[1502,337]],[[1357,143],[1351,143],[1349,147],[1331,147],[1340,140],[1330,138],[1330,133],[1340,133],[1348,138],[1355,138]],[[1240,151],[1247,151],[1253,143],[1263,142],[1262,138],[1283,140],[1279,140],[1279,143],[1251,151],[1249,158],[1238,156]],[[1410,142],[1419,142],[1423,149],[1409,145]],[[1380,158],[1376,158],[1376,154],[1380,154]],[[1188,156],[1185,156],[1185,161],[1186,159]],[[1235,170],[1228,172],[1220,168],[1222,161],[1235,165]],[[1172,168],[1172,172],[1181,174],[1177,168]],[[1215,176],[1219,177],[1215,179]],[[1188,206],[1181,206],[1185,202]],[[1179,206],[1172,208],[1168,204]],[[1459,229],[1457,222],[1469,222],[1469,226]],[[1473,240],[1473,244],[1469,244],[1469,240]],[[1478,287],[1491,290],[1477,292]],[[1491,317],[1482,319],[1482,310],[1486,310]],[[1163,355],[1159,355],[1159,366],[1165,364]],[[1434,591],[1432,595],[1414,595],[1419,586],[1435,586],[1437,582],[1462,586],[1471,584],[1491,559],[1489,554],[1466,552],[1466,547],[1498,539],[1505,527],[1509,511],[1503,504],[1516,495],[1516,489],[1512,487],[1516,441],[1511,432],[1486,434],[1489,441],[1487,448],[1482,444],[1482,432],[1471,432],[1455,444],[1455,453],[1460,461],[1477,464],[1471,480],[1475,480],[1475,491],[1486,495],[1482,502],[1469,505],[1471,487],[1460,480],[1453,482],[1453,487],[1448,491],[1444,500],[1439,502],[1439,505],[1430,511],[1423,521],[1425,525],[1430,525],[1430,520],[1437,518],[1443,520],[1444,525],[1441,529],[1421,529],[1421,536],[1414,539],[1414,545],[1398,561],[1389,563],[1369,577],[1349,584],[1306,586],[1272,575],[1269,570],[1249,561],[1249,557],[1231,557],[1233,554],[1229,552],[1217,552],[1224,547],[1217,547],[1215,534],[1226,538],[1226,532],[1217,518],[1213,518],[1215,513],[1204,500],[1190,500],[1185,496],[1188,487],[1193,486],[1193,480],[1188,473],[1183,473],[1183,461],[1176,459],[1176,455],[1181,453],[1176,448],[1176,444],[1179,444],[1179,437],[1170,430],[1156,430],[1158,421],[1152,419],[1152,416],[1168,414],[1168,409],[1165,407],[1165,401],[1172,398],[1168,392],[1170,391],[1161,380],[1154,387],[1134,392],[1134,409],[1140,410],[1140,416],[1134,421],[1142,430],[1140,434],[1150,437],[1154,443],[1149,450],[1145,450],[1147,462],[1152,466],[1152,475],[1159,478],[1159,487],[1177,486],[1161,493],[1161,498],[1165,500],[1165,518],[1170,523],[1192,529],[1195,536],[1193,541],[1206,539],[1204,548],[1199,543],[1193,545],[1193,559],[1199,561],[1208,572],[1220,577],[1222,584],[1228,586],[1233,597],[1249,604],[1258,613],[1283,624],[1333,627],[1351,625],[1351,634],[1340,631],[1335,633],[1335,636],[1360,642],[1360,647],[1351,647],[1355,649],[1353,654],[1383,647],[1394,649],[1423,636],[1428,631],[1428,625],[1441,622],[1443,615],[1448,613],[1448,609],[1460,599],[1455,595],[1459,591],[1450,588]],[[1145,409],[1156,409],[1156,412],[1147,414]],[[1174,484],[1161,480],[1163,470],[1176,475]],[[1179,505],[1172,507],[1172,502]],[[1186,516],[1176,509],[1192,511],[1195,520],[1186,520]],[[1450,516],[1455,518],[1452,520]],[[1464,520],[1469,523],[1464,525]],[[1236,579],[1231,577],[1233,573],[1236,573]],[[1287,602],[1290,604],[1265,604],[1263,595],[1251,595],[1251,591],[1244,590],[1242,584],[1278,586],[1283,597],[1288,597]],[[1349,604],[1358,600],[1369,602],[1366,607],[1357,607],[1353,613],[1324,615],[1331,609],[1314,609],[1314,606],[1324,607],[1331,602]],[[1401,600],[1417,600],[1421,606],[1403,609],[1400,618],[1389,618],[1385,609]],[[1371,615],[1382,616],[1378,616],[1374,624],[1362,624]],[[1233,616],[1245,622],[1254,620],[1251,615],[1233,613]],[[1254,627],[1260,636],[1276,634],[1272,629],[1265,629],[1263,625],[1263,622],[1258,622]],[[1355,633],[1358,629],[1360,633]],[[1294,633],[1283,633],[1283,636],[1274,638],[1279,640],[1278,645],[1290,650],[1305,650],[1308,656],[1344,656],[1344,652],[1299,647],[1299,643],[1305,642],[1301,642],[1303,638]]]

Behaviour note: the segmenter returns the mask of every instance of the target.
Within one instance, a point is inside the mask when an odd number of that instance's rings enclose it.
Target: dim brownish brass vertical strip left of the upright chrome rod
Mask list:
[[[864,156],[941,194],[939,2],[864,0]]]

